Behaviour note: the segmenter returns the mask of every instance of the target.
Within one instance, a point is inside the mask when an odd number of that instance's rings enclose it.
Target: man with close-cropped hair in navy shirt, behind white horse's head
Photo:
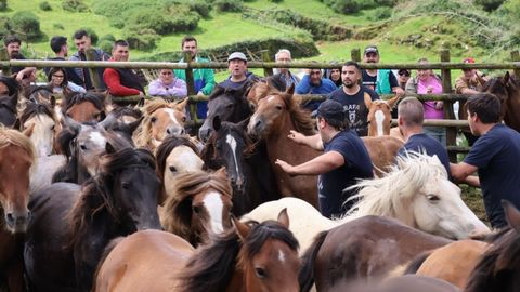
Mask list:
[[[422,131],[424,121],[425,108],[419,99],[406,97],[401,101],[398,107],[398,124],[406,143],[399,149],[399,155],[406,156],[408,151],[426,152],[429,156],[437,155],[450,177],[447,151],[439,141]]]

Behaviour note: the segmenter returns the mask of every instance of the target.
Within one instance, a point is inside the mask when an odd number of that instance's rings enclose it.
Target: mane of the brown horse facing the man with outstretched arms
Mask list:
[[[316,133],[315,121],[311,118],[311,115],[308,110],[303,109],[300,106],[300,102],[285,92],[271,92],[272,94],[278,94],[283,96],[283,101],[287,110],[290,114],[290,118],[295,123],[295,129],[297,132],[302,133],[303,135],[314,135]]]

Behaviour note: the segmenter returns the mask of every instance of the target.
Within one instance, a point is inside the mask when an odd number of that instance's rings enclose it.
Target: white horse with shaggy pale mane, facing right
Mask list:
[[[361,181],[352,188],[360,189],[353,198],[360,201],[342,218],[328,220],[306,201],[283,198],[259,205],[242,220],[275,220],[278,212],[287,208],[290,230],[300,242],[300,253],[320,231],[366,215],[394,217],[414,228],[454,239],[490,231],[464,203],[460,188],[447,180],[437,156],[411,152],[399,157],[384,177]]]

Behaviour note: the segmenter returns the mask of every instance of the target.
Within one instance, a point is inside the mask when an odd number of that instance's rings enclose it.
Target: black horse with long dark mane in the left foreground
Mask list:
[[[154,157],[142,149],[116,150],[110,143],[101,158],[100,173],[81,189],[62,183],[34,194],[34,221],[24,251],[32,289],[90,291],[108,241],[136,230],[161,228]]]

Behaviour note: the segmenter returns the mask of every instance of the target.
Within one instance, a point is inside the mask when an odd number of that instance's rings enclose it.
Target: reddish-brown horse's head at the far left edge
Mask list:
[[[27,229],[29,171],[35,160],[35,148],[26,135],[0,128],[0,210],[4,226],[13,234]]]

